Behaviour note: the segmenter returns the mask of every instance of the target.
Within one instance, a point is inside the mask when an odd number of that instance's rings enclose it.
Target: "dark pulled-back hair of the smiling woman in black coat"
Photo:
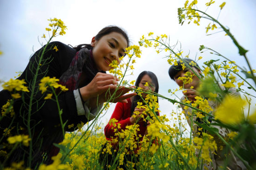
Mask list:
[[[95,40],[100,40],[104,35],[108,35],[111,32],[117,32],[120,33],[127,41],[127,46],[130,45],[130,40],[128,38],[128,35],[126,33],[126,31],[124,31],[123,29],[121,29],[118,26],[113,26],[113,25],[109,25],[104,27],[103,29],[101,29],[101,31],[98,32],[98,34],[95,36]],[[88,49],[93,49],[93,47],[91,46],[91,44],[80,44],[74,47],[74,49],[76,51],[81,50],[82,48],[88,48]]]

